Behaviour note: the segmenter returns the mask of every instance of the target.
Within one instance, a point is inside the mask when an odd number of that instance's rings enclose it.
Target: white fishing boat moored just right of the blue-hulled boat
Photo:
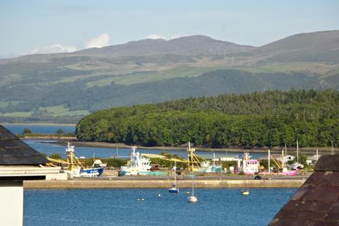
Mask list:
[[[119,176],[150,174],[150,159],[148,157],[143,157],[140,153],[136,152],[136,146],[132,146],[131,149],[129,163],[120,168]]]

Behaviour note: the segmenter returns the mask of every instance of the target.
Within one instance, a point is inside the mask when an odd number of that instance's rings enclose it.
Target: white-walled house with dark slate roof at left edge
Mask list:
[[[58,177],[46,157],[0,125],[0,225],[23,225],[23,180]]]

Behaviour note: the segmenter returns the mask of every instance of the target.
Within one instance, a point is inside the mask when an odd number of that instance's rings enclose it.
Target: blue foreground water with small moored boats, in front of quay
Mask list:
[[[295,189],[250,189],[249,196],[239,189],[196,189],[198,203],[188,203],[186,191],[25,190],[23,225],[267,225]]]

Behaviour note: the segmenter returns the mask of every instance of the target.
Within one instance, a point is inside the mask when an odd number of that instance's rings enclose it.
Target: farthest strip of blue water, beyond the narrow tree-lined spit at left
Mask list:
[[[60,126],[60,125],[30,125],[30,124],[2,124],[12,133],[22,133],[23,129],[30,129],[33,133],[57,133],[58,129],[62,129],[64,133],[76,131],[75,126]]]

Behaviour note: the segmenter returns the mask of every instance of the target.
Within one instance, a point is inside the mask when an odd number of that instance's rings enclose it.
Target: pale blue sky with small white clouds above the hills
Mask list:
[[[261,46],[339,30],[338,0],[1,0],[0,58],[207,35]]]

